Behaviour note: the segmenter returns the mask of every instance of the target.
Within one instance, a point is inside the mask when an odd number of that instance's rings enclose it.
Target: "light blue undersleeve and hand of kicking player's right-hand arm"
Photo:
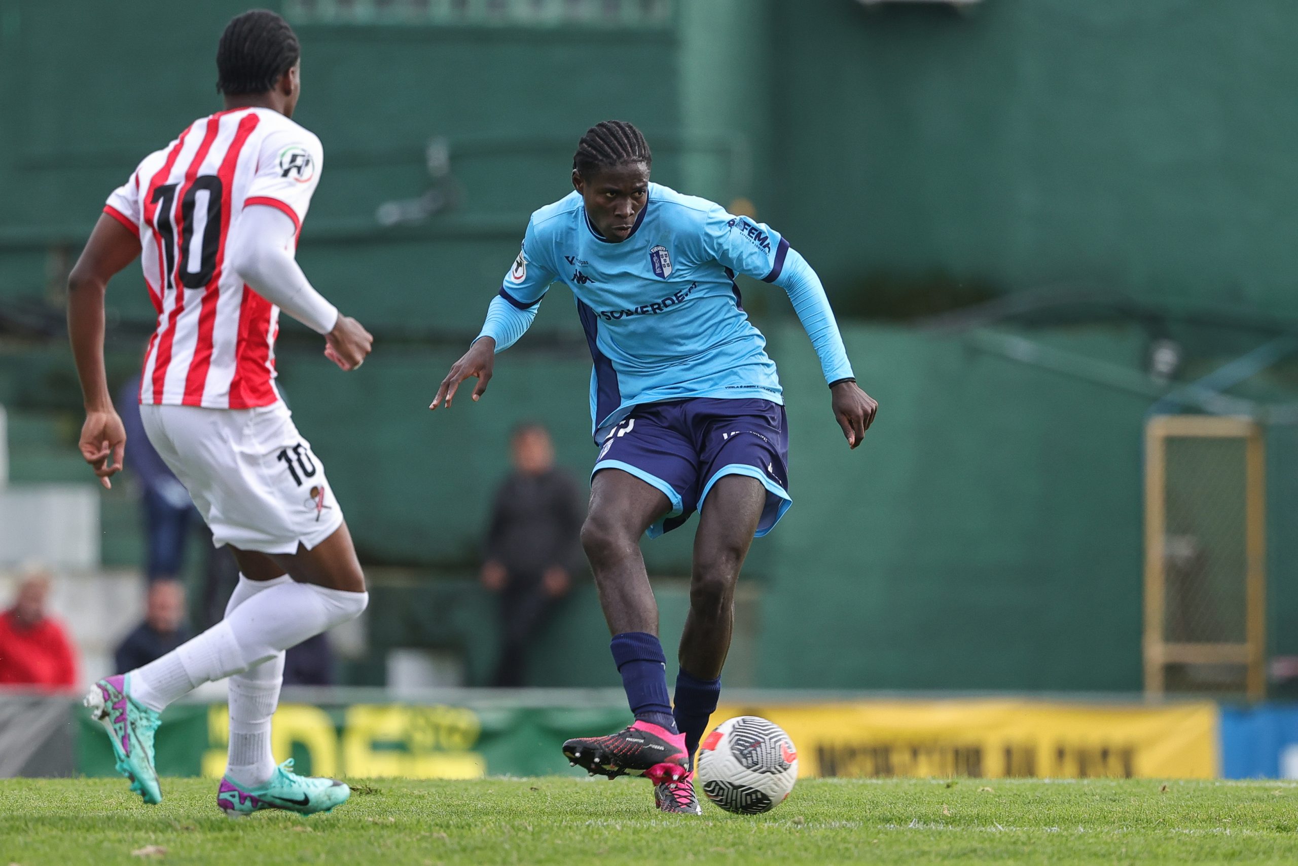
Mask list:
[[[848,445],[855,449],[874,423],[879,403],[857,386],[848,350],[842,345],[842,334],[839,333],[839,323],[833,318],[820,277],[797,250],[789,249],[774,283],[788,293],[798,320],[820,357],[820,368],[832,393],[833,417],[842,428]]]

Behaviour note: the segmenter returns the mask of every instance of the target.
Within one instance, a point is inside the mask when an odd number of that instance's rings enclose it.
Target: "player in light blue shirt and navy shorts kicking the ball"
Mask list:
[[[472,399],[482,397],[496,353],[523,336],[550,284],[571,288],[594,360],[591,416],[601,443],[582,544],[636,721],[610,736],[569,740],[563,752],[592,774],[646,775],[659,809],[700,814],[691,767],[720,694],[735,583],[753,537],[792,502],[780,381],[735,275],[788,293],[850,447],[877,403],[857,388],[820,280],[788,241],[650,183],[650,163],[632,124],[587,131],[572,161],[575,192],[532,214],[482,333],[430,408],[449,407],[470,376]],[[680,526],[694,509],[702,513],[674,709],[639,539]]]

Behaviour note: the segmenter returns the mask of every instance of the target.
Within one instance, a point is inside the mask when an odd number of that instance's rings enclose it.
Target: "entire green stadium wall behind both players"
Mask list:
[[[330,476],[375,591],[380,650],[492,661],[474,582],[509,428],[541,419],[559,460],[593,458],[589,360],[566,293],[544,305],[480,404],[428,399],[480,322],[527,214],[562,196],[576,137],[635,121],[655,178],[750,198],[850,307],[875,274],[942,271],[1006,292],[1088,284],[1150,299],[1298,312],[1298,6],[1184,0],[988,0],[970,10],[849,0],[678,3],[667,26],[300,23],[300,119],[326,148],[300,258],[380,336],[353,376],[286,325],[282,382]],[[60,277],[109,189],[217,105],[215,34],[244,4],[0,0],[0,302],[60,303]],[[610,48],[615,45],[615,51]],[[125,48],[123,48],[125,47]],[[458,205],[382,228],[428,188],[449,143]],[[1138,395],[974,353],[903,325],[848,324],[881,402],[849,454],[806,337],[778,290],[745,288],[788,390],[797,507],[759,539],[728,678],[827,688],[1140,687]],[[151,310],[110,288],[114,385]],[[1142,363],[1124,327],[1033,334]],[[0,402],[23,438],[14,478],[75,480],[75,377],[57,344],[0,342]],[[1272,650],[1298,613],[1284,529],[1294,433],[1272,433]],[[138,561],[136,519],[105,498],[105,560]],[[692,526],[692,525],[691,525]],[[645,546],[663,631],[687,594],[692,529]],[[378,573],[378,572],[376,572]],[[583,586],[543,637],[532,682],[604,686],[605,630]],[[672,655],[668,651],[668,655]],[[370,665],[357,674],[376,682]]]

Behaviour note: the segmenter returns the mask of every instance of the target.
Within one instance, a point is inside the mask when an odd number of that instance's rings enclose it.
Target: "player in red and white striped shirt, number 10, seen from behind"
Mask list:
[[[158,713],[225,677],[230,758],[219,808],[312,813],[348,796],[345,784],[276,767],[270,749],[284,650],[358,616],[369,599],[324,468],[274,381],[280,310],[323,334],[324,354],[345,371],[360,367],[371,345],[293,258],[323,165],[319,139],[291,119],[300,53],[279,16],[232,19],[217,51],[225,110],[145,157],[109,196],[69,279],[67,323],[86,399],[82,455],[105,487],[122,468],[126,433],[104,375],[104,290],[140,257],[158,314],[140,417],[213,542],[231,546],[241,572],[221,624],[100,681],[86,699],[145,802],[161,800]]]

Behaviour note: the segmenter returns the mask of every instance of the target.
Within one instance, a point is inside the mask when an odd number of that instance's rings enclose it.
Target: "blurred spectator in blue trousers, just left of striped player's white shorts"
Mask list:
[[[144,506],[144,539],[148,548],[145,574],[149,581],[175,579],[184,561],[184,544],[190,529],[201,524],[199,509],[190,499],[171,469],[149,445],[149,437],[140,423],[140,377],[135,376],[122,388],[117,398],[117,411],[126,427],[126,467],[140,481]]]

